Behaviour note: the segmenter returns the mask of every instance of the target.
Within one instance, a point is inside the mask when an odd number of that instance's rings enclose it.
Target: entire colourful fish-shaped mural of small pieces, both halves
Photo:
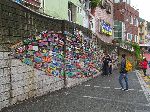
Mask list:
[[[69,78],[83,78],[99,72],[101,51],[97,39],[81,31],[74,34],[43,31],[24,37],[22,45],[15,49],[15,58],[49,76],[63,78],[66,74]]]

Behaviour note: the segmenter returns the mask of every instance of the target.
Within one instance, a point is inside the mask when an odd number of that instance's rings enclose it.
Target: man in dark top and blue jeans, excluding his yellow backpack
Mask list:
[[[123,85],[123,82],[122,82],[123,79],[125,81],[126,88],[124,88],[124,85]],[[125,54],[122,54],[119,83],[120,83],[120,86],[121,86],[121,90],[128,91],[128,74],[127,74],[127,71],[126,71],[126,55]]]

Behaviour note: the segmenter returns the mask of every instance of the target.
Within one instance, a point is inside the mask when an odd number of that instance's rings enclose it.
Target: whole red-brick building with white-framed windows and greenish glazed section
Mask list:
[[[114,3],[114,38],[138,43],[139,12],[126,2]]]

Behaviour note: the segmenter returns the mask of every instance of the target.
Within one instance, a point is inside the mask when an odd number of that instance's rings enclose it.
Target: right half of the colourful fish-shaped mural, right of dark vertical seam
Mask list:
[[[66,74],[68,77],[90,77],[98,73],[99,58],[96,38],[80,31],[66,35]]]

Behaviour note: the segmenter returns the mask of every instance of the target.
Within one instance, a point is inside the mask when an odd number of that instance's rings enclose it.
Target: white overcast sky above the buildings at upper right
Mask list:
[[[131,0],[131,6],[139,9],[140,17],[150,22],[150,0]]]

